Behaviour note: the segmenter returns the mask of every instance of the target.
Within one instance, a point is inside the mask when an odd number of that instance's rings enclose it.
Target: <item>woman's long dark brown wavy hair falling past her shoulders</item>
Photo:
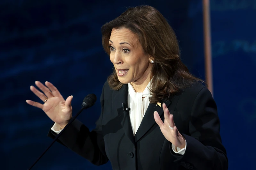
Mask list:
[[[152,97],[150,103],[156,103],[172,94],[189,87],[192,82],[201,81],[189,73],[180,60],[180,49],[176,35],[163,15],[154,7],[143,5],[127,9],[116,19],[101,27],[102,45],[110,55],[109,39],[112,28],[127,28],[135,33],[146,54],[154,58],[151,70]],[[108,85],[114,90],[122,87],[116,70],[108,77]]]

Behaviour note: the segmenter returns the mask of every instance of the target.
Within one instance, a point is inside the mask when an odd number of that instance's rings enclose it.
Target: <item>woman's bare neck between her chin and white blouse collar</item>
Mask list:
[[[146,76],[143,76],[139,80],[131,82],[131,85],[134,88],[135,92],[143,92],[147,87],[148,83],[150,82],[150,70],[146,70],[144,74],[146,74]]]

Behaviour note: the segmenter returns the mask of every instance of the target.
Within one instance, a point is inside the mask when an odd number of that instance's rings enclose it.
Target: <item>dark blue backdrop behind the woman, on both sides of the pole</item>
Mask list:
[[[40,101],[30,90],[36,80],[52,82],[64,98],[98,101],[79,115],[93,129],[100,115],[100,93],[112,63],[101,45],[100,28],[129,6],[156,7],[175,30],[182,61],[204,79],[202,1],[51,0],[0,1],[0,169],[27,169],[51,143],[52,121],[25,100]],[[227,149],[229,169],[255,169],[256,1],[212,0],[214,99]],[[94,166],[55,143],[33,169],[111,169]]]

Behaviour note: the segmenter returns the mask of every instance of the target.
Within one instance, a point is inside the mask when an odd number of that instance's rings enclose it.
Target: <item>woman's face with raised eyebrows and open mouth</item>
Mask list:
[[[150,56],[145,54],[136,34],[127,28],[113,28],[109,46],[110,60],[121,83],[143,83],[149,78]]]

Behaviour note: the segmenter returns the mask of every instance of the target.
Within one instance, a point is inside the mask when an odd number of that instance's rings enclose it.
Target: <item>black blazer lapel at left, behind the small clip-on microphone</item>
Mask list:
[[[122,105],[124,103],[125,107],[128,106],[127,98],[128,98],[128,84],[124,84],[121,87],[121,89],[119,89],[118,91],[115,91],[115,94],[113,96],[113,99],[114,99],[113,101],[115,102],[114,109],[117,110],[125,135],[135,145],[129,111],[124,111],[123,105]]]

